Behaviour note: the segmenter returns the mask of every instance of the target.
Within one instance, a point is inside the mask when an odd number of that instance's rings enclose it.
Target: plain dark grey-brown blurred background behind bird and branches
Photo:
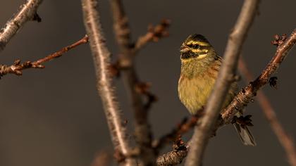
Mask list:
[[[222,55],[242,1],[123,3],[133,39],[147,32],[149,23],[155,25],[162,18],[172,21],[170,37],[148,44],[137,56],[141,80],[151,82],[152,92],[159,97],[149,117],[154,136],[159,137],[180,122],[181,117],[189,115],[177,93],[180,44],[189,34],[204,34]],[[20,4],[23,0],[1,0],[1,27]],[[108,1],[101,1],[99,5],[107,43],[116,56],[118,49],[113,38],[110,6]],[[276,50],[270,44],[273,34],[290,34],[296,27],[295,5],[296,1],[292,0],[261,1],[259,15],[242,51],[254,75],[259,75]],[[18,58],[37,60],[85,35],[80,1],[44,1],[38,13],[42,23],[26,23],[0,53],[1,64],[11,64]],[[295,49],[290,51],[276,74],[278,90],[264,87],[280,122],[293,137],[296,136],[295,54]],[[104,111],[95,88],[89,46],[79,46],[45,65],[43,70],[25,70],[21,77],[6,75],[0,80],[0,165],[85,166],[90,165],[98,151],[112,152]],[[115,83],[132,133],[132,110],[121,79]],[[288,165],[285,151],[256,100],[249,104],[247,113],[253,115],[252,131],[257,146],[243,146],[232,126],[223,127],[211,139],[204,165]]]

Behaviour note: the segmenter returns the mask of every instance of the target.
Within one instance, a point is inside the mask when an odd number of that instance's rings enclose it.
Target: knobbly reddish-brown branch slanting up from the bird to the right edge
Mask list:
[[[242,89],[240,93],[235,96],[235,99],[230,103],[230,105],[225,110],[223,110],[222,117],[224,124],[230,123],[233,120],[235,113],[237,113],[238,110],[245,108],[249,101],[251,101],[252,98],[256,96],[257,91],[269,82],[269,78],[274,72],[276,72],[276,70],[278,70],[280,63],[283,62],[285,56],[287,56],[288,52],[290,49],[292,49],[292,46],[294,46],[295,43],[296,29],[292,32],[292,34],[290,34],[288,39],[282,40],[280,42],[280,45],[278,45],[276,49],[275,56],[273,56],[266,68],[263,70],[263,72],[261,72],[261,75],[259,75],[259,77],[257,77],[257,79],[255,79],[253,82],[250,82],[247,87]]]

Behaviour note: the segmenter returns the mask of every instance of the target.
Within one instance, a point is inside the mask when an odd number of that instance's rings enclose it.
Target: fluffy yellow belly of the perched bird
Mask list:
[[[180,77],[179,98],[191,114],[197,113],[206,104],[214,83],[214,79],[211,77]]]

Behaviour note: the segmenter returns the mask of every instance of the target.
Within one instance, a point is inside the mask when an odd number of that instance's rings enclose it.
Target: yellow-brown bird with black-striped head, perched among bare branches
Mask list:
[[[221,68],[222,58],[217,55],[214,47],[201,34],[192,34],[180,47],[181,73],[178,82],[180,101],[192,115],[201,110],[206,104],[211,90],[214,87],[218,72]],[[234,82],[223,103],[223,108],[233,100],[238,89]],[[237,117],[242,116],[238,113]],[[247,126],[233,123],[242,143],[255,146],[254,137]]]

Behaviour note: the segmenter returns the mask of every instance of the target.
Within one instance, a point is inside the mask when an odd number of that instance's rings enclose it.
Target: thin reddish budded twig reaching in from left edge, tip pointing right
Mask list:
[[[20,63],[20,60],[15,60],[13,65],[0,65],[0,77],[7,75],[7,74],[15,74],[15,75],[22,75],[22,70],[28,69],[28,68],[44,68],[43,63],[52,60],[54,58],[58,58],[60,56],[63,56],[63,53],[68,52],[70,49],[75,48],[76,46],[79,46],[80,44],[85,44],[88,41],[88,37],[85,36],[79,41],[76,41],[75,43],[71,44],[70,46],[65,46],[60,51],[57,51],[55,53],[51,53],[49,56],[46,56],[44,58],[41,58],[39,60],[36,60],[34,62],[26,61],[25,63]]]

